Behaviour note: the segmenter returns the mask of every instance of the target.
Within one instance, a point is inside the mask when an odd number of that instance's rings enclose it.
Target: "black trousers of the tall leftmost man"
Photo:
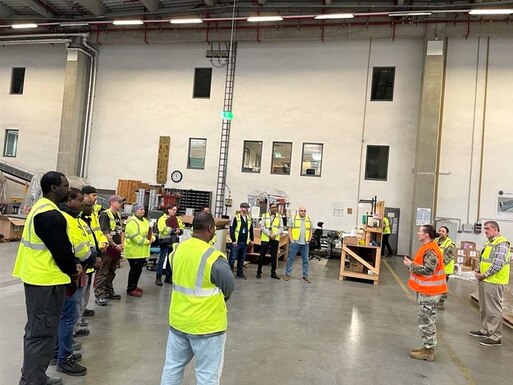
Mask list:
[[[46,385],[46,369],[55,350],[65,294],[66,285],[25,284],[27,324],[20,385]]]

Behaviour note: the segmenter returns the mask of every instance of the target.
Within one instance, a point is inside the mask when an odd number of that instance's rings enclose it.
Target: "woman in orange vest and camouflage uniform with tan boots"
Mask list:
[[[413,261],[404,257],[404,264],[410,270],[408,286],[417,292],[419,306],[417,324],[423,346],[410,352],[410,356],[417,360],[435,359],[436,309],[440,296],[447,292],[443,255],[435,242],[436,237],[433,226],[420,226],[417,238],[422,247],[415,254]]]

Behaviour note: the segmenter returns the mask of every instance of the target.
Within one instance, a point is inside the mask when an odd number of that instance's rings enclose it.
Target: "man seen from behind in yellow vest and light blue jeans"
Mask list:
[[[197,385],[217,385],[226,342],[228,300],[235,287],[226,256],[209,245],[214,218],[200,212],[193,233],[170,255],[173,291],[169,306],[169,337],[161,385],[179,385],[196,357]]]

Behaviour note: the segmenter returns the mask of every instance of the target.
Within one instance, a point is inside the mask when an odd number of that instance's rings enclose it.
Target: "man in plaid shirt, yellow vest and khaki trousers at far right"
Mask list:
[[[481,345],[501,346],[502,297],[509,283],[510,242],[500,234],[499,224],[495,221],[485,222],[484,232],[488,241],[475,272],[479,281],[481,329],[469,334],[478,337]]]

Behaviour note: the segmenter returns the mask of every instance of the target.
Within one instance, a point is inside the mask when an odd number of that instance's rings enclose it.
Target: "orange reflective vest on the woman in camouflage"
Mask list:
[[[425,245],[422,245],[419,251],[417,251],[415,258],[413,259],[413,263],[416,265],[424,264],[424,254],[429,250],[435,253],[438,258],[438,264],[436,265],[435,271],[431,275],[420,275],[411,272],[408,286],[410,286],[410,288],[418,293],[427,295],[447,293],[444,258],[442,256],[442,251],[435,241],[431,241]]]

